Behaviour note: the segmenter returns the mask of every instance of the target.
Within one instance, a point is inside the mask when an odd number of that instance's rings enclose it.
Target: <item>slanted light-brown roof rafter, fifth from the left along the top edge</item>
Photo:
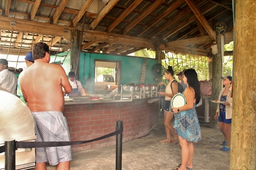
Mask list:
[[[90,25],[90,29],[94,29],[99,22],[105,17],[106,14],[118,3],[119,0],[109,0],[108,3],[99,11],[98,17],[96,17]]]

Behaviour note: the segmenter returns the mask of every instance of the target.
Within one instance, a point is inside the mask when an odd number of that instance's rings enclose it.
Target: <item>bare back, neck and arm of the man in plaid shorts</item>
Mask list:
[[[49,64],[48,56],[35,59],[35,63],[27,68],[20,87],[30,111],[60,111],[64,109],[64,94],[72,92],[64,69],[60,65]]]

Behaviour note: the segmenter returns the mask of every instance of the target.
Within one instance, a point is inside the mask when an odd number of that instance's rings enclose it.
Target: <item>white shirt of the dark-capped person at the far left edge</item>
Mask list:
[[[5,88],[7,91],[16,95],[18,79],[14,73],[8,69],[4,69],[0,72],[0,86]]]

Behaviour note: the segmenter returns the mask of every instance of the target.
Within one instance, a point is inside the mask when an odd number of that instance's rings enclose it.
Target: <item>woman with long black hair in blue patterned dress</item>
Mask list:
[[[179,136],[181,146],[181,164],[175,170],[192,169],[194,145],[192,142],[201,141],[201,130],[195,105],[201,98],[200,83],[194,69],[184,72],[184,83],[188,87],[183,92],[186,104],[180,108],[172,108],[175,113],[175,133]]]

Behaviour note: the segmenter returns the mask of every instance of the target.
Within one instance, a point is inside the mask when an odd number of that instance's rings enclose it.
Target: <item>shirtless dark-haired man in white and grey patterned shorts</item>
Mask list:
[[[33,47],[35,63],[23,73],[20,88],[35,120],[36,142],[70,141],[67,120],[63,116],[64,94],[72,92],[64,69],[49,64],[49,46],[38,42]],[[62,87],[64,90],[62,90]],[[71,146],[36,148],[35,170],[46,170],[46,162],[56,170],[70,169]]]

